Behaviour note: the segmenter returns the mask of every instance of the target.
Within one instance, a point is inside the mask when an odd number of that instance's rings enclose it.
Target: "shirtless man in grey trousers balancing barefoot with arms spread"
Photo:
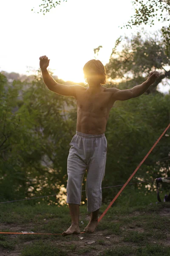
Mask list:
[[[116,100],[127,100],[142,95],[154,83],[160,73],[151,72],[148,79],[132,89],[106,88],[105,67],[99,60],[88,61],[83,72],[88,87],[58,84],[48,73],[48,57],[40,57],[42,78],[49,90],[63,96],[73,96],[77,102],[77,130],[71,140],[68,155],[67,203],[71,215],[71,227],[63,235],[79,234],[79,206],[82,181],[87,170],[86,196],[91,220],[84,231],[93,233],[98,224],[98,212],[102,202],[102,180],[105,175],[107,140],[105,128],[111,108]]]

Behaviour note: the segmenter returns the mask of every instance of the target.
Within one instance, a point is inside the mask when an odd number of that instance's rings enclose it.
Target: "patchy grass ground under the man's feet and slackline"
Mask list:
[[[99,216],[106,207],[102,205]],[[65,237],[0,234],[0,255],[8,251],[10,256],[170,256],[169,215],[170,203],[156,204],[156,195],[144,198],[138,191],[125,193],[108,210],[92,234]],[[83,232],[89,218],[90,212],[81,205],[80,232]],[[36,205],[26,202],[1,204],[1,232],[61,234],[70,225],[68,205],[48,206],[44,201]],[[88,241],[95,243],[88,244]]]

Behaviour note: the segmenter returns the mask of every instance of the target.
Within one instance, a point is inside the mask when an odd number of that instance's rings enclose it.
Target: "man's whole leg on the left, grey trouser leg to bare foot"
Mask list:
[[[74,136],[70,145],[67,163],[67,203],[71,215],[71,227],[63,232],[63,235],[79,234],[79,206],[82,197],[82,181],[86,171],[86,161],[84,157],[84,146],[79,136]]]

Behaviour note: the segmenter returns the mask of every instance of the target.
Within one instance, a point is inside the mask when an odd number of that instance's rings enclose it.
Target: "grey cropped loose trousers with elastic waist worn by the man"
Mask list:
[[[67,203],[81,204],[82,182],[87,170],[87,211],[94,212],[102,203],[102,180],[105,176],[107,139],[105,134],[92,135],[76,131],[69,144],[67,160]]]

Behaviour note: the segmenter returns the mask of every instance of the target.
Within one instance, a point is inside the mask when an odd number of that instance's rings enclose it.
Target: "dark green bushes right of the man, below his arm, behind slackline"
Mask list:
[[[118,101],[110,112],[105,136],[108,140],[108,153],[105,177],[102,187],[124,184],[147,152],[170,123],[170,95],[142,95],[128,101]],[[130,182],[154,180],[157,177],[170,177],[169,154],[170,137],[165,135],[156,145],[136,175]],[[139,189],[154,183],[138,184]],[[149,186],[149,187],[150,187]],[[118,188],[106,189],[104,201],[113,199]],[[109,192],[110,191],[110,192]]]

